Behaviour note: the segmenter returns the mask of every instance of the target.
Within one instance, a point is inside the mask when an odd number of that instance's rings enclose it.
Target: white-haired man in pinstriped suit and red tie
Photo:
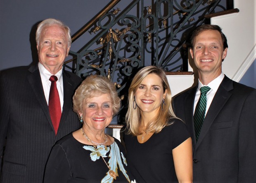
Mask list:
[[[36,42],[38,66],[1,72],[3,183],[42,183],[52,146],[81,126],[72,111],[73,92],[81,78],[62,69],[71,45],[70,29],[46,19],[38,25]]]

